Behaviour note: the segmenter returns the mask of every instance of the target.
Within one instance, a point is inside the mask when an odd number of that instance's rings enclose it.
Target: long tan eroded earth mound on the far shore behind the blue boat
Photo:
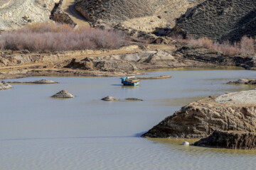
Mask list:
[[[102,72],[127,72],[144,67],[173,67],[178,61],[164,50],[145,50],[125,55],[107,55],[102,57],[86,57],[84,60],[73,59],[67,68],[100,70]]]

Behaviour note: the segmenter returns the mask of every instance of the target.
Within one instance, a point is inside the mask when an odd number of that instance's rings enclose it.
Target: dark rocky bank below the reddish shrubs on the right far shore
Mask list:
[[[176,51],[183,55],[185,59],[196,60],[198,62],[206,62],[223,66],[236,66],[245,69],[256,69],[256,57],[250,55],[227,56],[223,52],[216,52],[206,48],[195,48],[184,46]]]

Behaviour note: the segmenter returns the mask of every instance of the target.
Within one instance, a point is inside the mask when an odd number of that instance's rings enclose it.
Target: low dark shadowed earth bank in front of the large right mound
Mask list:
[[[195,142],[193,145],[228,149],[256,149],[256,133],[215,130],[212,135]]]

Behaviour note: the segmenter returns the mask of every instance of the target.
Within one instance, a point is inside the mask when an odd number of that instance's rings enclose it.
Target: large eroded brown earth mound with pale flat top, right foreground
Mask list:
[[[256,132],[256,91],[224,94],[189,103],[142,137],[208,137],[214,130]]]

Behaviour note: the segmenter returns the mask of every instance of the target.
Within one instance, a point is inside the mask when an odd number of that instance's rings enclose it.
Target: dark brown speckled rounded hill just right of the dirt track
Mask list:
[[[154,13],[154,6],[149,0],[78,0],[75,2],[75,9],[88,21],[120,22],[129,18],[151,16]]]

